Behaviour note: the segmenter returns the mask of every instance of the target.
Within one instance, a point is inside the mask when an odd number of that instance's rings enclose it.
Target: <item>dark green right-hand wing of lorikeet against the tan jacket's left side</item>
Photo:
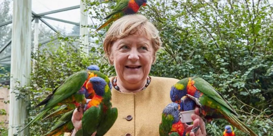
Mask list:
[[[103,136],[114,125],[117,114],[117,108],[107,110],[105,117],[98,126],[96,136]]]

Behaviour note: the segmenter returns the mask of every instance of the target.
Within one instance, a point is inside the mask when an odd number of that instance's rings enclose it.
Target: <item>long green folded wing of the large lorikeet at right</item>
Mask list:
[[[204,93],[208,97],[214,99],[215,101],[219,102],[221,105],[229,109],[232,113],[234,113],[237,116],[238,115],[234,108],[227,102],[227,100],[224,99],[224,97],[218,92],[216,89],[214,89],[207,81],[200,77],[193,77],[194,80],[194,86],[199,90],[200,92]]]

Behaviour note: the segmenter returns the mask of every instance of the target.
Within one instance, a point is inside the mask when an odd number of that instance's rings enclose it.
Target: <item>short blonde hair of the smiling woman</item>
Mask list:
[[[117,39],[127,37],[129,34],[139,32],[143,33],[152,41],[153,46],[153,63],[156,60],[156,52],[161,48],[161,40],[157,28],[143,15],[126,15],[116,20],[106,33],[103,42],[103,49],[110,64],[113,61],[110,59],[111,47]]]

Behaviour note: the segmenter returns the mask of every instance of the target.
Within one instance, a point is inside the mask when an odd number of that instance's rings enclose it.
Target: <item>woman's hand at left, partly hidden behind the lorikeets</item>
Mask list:
[[[82,117],[83,117],[83,108],[79,108],[79,111],[76,108],[74,110],[72,118],[71,118],[71,121],[74,126],[74,130],[73,130],[71,136],[75,136],[76,132],[78,130],[82,129]],[[91,136],[95,136],[95,135],[96,135],[96,132],[94,132]]]

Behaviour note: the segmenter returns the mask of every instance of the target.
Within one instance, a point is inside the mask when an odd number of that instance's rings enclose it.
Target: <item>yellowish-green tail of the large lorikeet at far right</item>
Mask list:
[[[236,128],[240,129],[241,131],[250,134],[251,136],[258,136],[253,132],[248,126],[246,126],[242,121],[240,121],[236,115],[230,113],[230,115],[225,117],[229,123],[234,125]]]

